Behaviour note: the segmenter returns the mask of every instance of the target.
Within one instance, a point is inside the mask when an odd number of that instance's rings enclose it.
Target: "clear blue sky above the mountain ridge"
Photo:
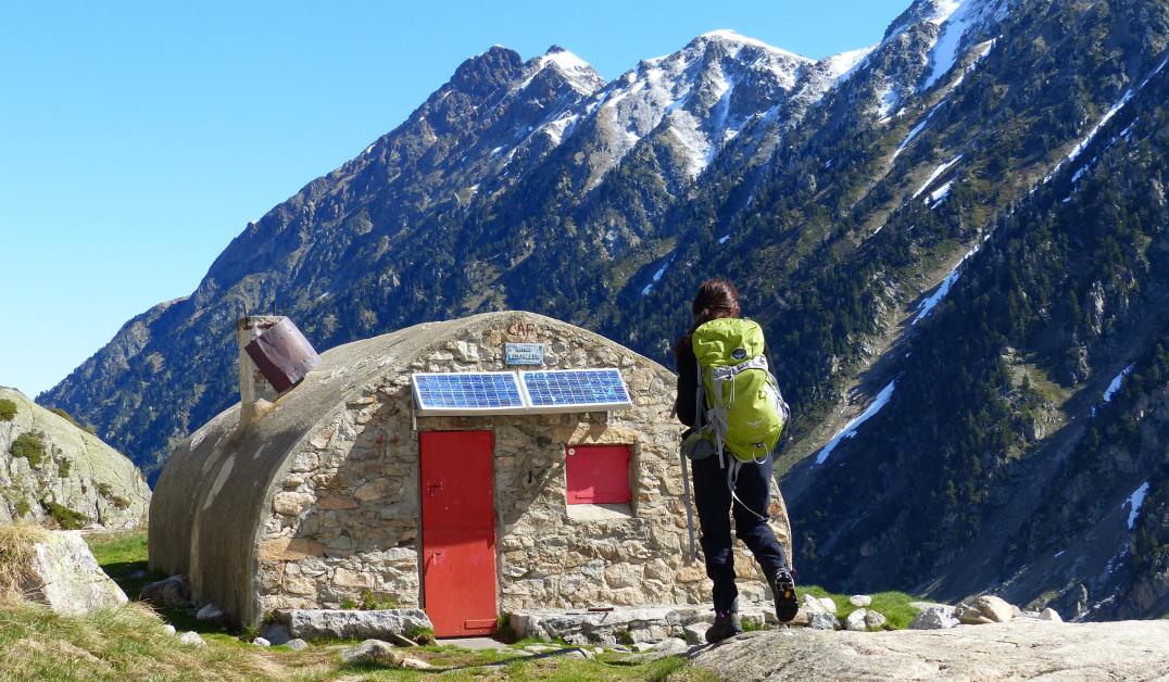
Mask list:
[[[909,0],[0,5],[0,384],[35,395],[191,293],[248,221],[466,57],[560,44],[606,78],[732,28],[822,57]]]

